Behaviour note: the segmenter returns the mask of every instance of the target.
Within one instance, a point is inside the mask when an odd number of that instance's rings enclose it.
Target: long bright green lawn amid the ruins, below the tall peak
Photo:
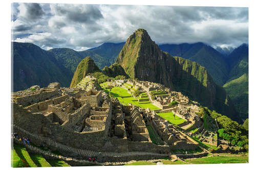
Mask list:
[[[110,93],[114,96],[114,98],[117,98],[119,102],[123,105],[129,105],[129,103],[139,106],[141,108],[150,108],[150,110],[160,110],[155,105],[151,104],[149,101],[146,102],[139,102],[138,99],[135,99],[132,97],[130,93],[127,92],[127,90],[123,89],[122,87],[113,87],[112,89],[108,89],[108,82],[101,83],[100,86],[104,89],[106,93]],[[144,98],[143,98],[144,99]]]

